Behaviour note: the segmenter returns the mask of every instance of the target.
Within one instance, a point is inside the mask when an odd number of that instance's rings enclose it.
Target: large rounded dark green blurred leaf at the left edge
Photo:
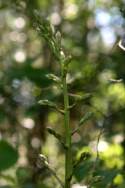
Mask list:
[[[17,162],[17,151],[6,141],[0,141],[0,171],[10,168]]]

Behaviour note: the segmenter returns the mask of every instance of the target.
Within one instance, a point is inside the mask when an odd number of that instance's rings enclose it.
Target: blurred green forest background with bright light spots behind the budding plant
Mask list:
[[[62,34],[72,55],[68,74],[72,96],[84,96],[71,110],[71,127],[87,112],[94,115],[73,136],[73,156],[90,153],[75,171],[73,188],[125,188],[125,52],[118,41],[125,31],[124,0],[0,0],[0,188],[58,188],[39,165],[45,154],[61,179],[64,154],[52,127],[64,133],[63,117],[38,104],[63,105],[60,89],[47,73],[60,74],[58,62],[37,32],[34,12]],[[76,184],[77,183],[77,184]],[[81,185],[81,186],[80,186]]]

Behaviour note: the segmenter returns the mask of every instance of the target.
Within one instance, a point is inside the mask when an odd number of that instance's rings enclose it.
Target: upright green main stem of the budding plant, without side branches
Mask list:
[[[69,124],[70,121],[69,97],[68,97],[65,71],[62,74],[62,83],[63,83],[63,95],[64,95],[65,144],[67,146],[67,149],[65,151],[65,188],[70,188],[71,175],[72,175],[71,128]]]

